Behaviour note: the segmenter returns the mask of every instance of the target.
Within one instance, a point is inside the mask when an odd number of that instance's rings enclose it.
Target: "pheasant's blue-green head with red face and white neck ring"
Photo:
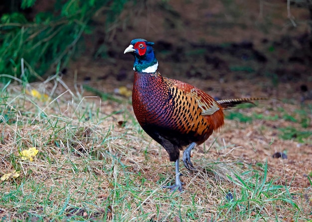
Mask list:
[[[133,70],[140,73],[155,73],[158,68],[158,61],[154,55],[154,42],[137,38],[131,41],[124,54],[130,52],[135,57]]]

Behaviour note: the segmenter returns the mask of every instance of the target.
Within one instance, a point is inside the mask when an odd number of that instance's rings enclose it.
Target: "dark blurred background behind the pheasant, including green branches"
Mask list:
[[[311,0],[6,0],[0,14],[4,83],[57,74],[131,90],[133,58],[123,51],[145,38],[156,43],[163,76],[215,97],[311,97]]]

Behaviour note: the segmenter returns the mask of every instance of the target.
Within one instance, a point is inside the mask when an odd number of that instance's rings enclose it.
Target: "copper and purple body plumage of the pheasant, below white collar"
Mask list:
[[[168,152],[170,161],[179,158],[191,142],[203,143],[213,130],[223,125],[220,109],[212,115],[202,115],[189,84],[155,74],[135,72],[132,94],[133,109],[142,128]],[[196,89],[208,103],[214,101]],[[196,91],[195,91],[196,93]]]

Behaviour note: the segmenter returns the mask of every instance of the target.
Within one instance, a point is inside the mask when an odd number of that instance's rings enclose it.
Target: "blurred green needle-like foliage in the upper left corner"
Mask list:
[[[57,73],[83,51],[83,36],[92,33],[94,14],[105,13],[103,29],[108,30],[127,1],[56,0],[51,11],[39,11],[30,19],[21,9],[36,0],[12,1],[18,5],[10,5],[0,17],[0,82]]]

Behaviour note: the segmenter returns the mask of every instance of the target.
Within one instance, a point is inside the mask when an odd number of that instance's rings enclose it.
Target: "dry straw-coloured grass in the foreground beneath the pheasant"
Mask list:
[[[25,88],[54,99],[42,102]],[[258,128],[226,120],[223,132],[193,153],[198,171],[181,166],[184,191],[172,193],[161,187],[173,183],[173,163],[142,131],[128,100],[101,102],[74,89],[54,77],[1,91],[0,176],[20,172],[0,183],[1,221],[311,220],[312,184],[285,180],[285,160],[259,161],[259,150],[272,151],[267,142],[261,148],[264,138],[272,140],[259,129],[269,127],[265,120],[256,120]],[[33,162],[19,155],[29,147],[39,150]]]

